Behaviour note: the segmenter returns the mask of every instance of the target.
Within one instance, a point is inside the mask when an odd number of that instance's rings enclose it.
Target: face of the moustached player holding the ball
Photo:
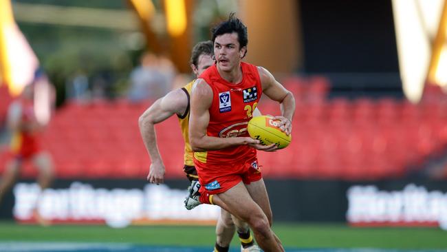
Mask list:
[[[214,54],[217,67],[224,72],[230,72],[239,67],[246,48],[240,48],[236,32],[226,33],[216,37],[214,42]]]

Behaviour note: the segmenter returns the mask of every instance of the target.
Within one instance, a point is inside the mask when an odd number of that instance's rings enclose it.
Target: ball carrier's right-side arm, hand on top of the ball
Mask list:
[[[292,119],[295,112],[295,98],[289,90],[286,90],[281,83],[276,81],[274,76],[265,68],[258,67],[259,77],[261,78],[261,85],[263,93],[273,101],[279,102],[281,106],[281,116],[275,116],[275,119],[280,120],[280,128],[285,134],[292,132]]]

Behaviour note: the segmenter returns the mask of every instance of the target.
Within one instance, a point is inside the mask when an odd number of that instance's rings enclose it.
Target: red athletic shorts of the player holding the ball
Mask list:
[[[249,185],[250,182],[262,178],[257,158],[251,158],[246,162],[206,164],[194,160],[197,174],[199,174],[200,193],[211,195],[223,193],[239,182]]]

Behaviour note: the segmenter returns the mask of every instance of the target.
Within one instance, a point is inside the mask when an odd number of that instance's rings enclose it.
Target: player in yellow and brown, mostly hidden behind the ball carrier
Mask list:
[[[199,42],[193,48],[190,59],[190,65],[196,76],[199,76],[206,68],[214,63],[212,54],[212,42]],[[147,109],[138,121],[140,125],[140,133],[144,140],[144,145],[151,157],[151,167],[149,168],[149,175],[147,180],[151,183],[164,182],[164,164],[158,151],[155,127],[157,123],[161,123],[167,118],[177,115],[182,129],[184,138],[184,172],[186,177],[191,181],[191,188],[195,188],[197,184],[197,171],[193,163],[193,151],[189,145],[188,140],[188,120],[190,112],[190,92],[194,81],[191,81],[181,89],[173,90],[166,94],[166,96],[158,99]],[[241,251],[259,251],[259,247],[254,244],[252,235],[248,224],[235,219],[234,224],[230,213],[221,209],[221,215],[217,221],[216,235],[217,241],[215,244],[215,251],[228,251],[230,242],[235,233],[235,224],[237,233],[241,240]]]

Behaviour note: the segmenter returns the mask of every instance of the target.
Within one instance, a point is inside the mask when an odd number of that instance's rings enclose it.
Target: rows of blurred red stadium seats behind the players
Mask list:
[[[447,144],[447,103],[433,92],[413,105],[396,98],[328,98],[323,77],[288,78],[296,97],[292,143],[260,153],[267,178],[377,180],[400,178],[440,156]],[[263,114],[279,106],[263,99]],[[43,135],[59,178],[142,178],[149,157],[138,117],[151,105],[129,101],[67,103]],[[183,177],[183,143],[175,117],[156,125],[166,178]],[[0,157],[3,164],[6,159]],[[27,165],[25,176],[35,171]]]

